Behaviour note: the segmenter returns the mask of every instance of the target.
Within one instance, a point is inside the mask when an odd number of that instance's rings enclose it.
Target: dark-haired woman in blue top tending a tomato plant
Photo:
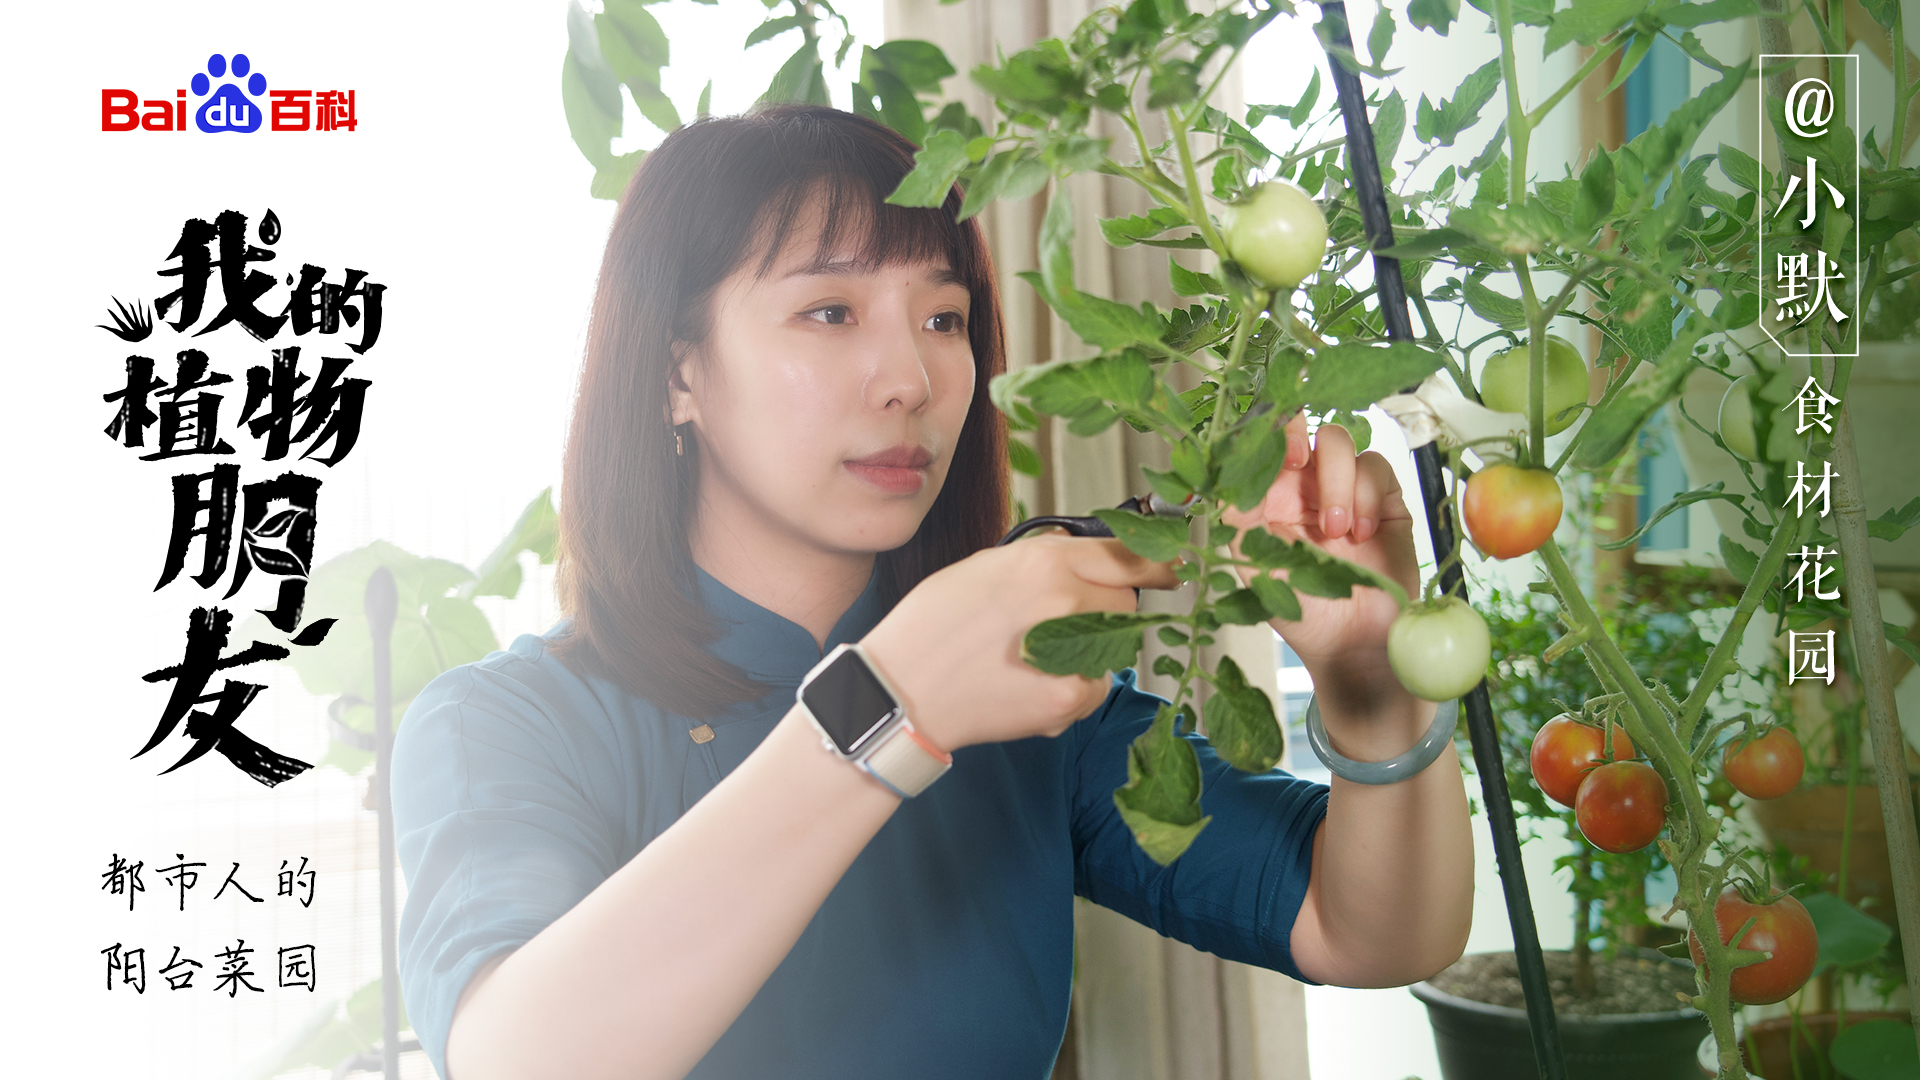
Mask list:
[[[566,446],[568,619],[436,678],[394,753],[401,974],[444,1076],[1037,1080],[1073,894],[1315,982],[1463,949],[1452,751],[1329,796],[1202,746],[1212,824],[1167,869],[1137,849],[1112,790],[1160,700],[1131,671],[1043,675],[1020,638],[1175,577],[1112,540],[991,546],[993,267],[958,192],[883,204],[908,169],[881,125],[781,106],[684,127],[636,173]],[[1386,463],[1288,434],[1236,521],[1411,590]],[[1400,753],[1432,705],[1388,675],[1392,601],[1311,603],[1279,628],[1332,740]],[[904,707],[918,780],[851,765],[831,705],[795,701],[845,642]]]

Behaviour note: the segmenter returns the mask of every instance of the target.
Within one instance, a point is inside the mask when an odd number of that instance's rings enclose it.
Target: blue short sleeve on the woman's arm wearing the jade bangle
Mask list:
[[[1114,676],[1100,711],[1073,726],[1073,892],[1196,949],[1313,984],[1294,967],[1292,928],[1327,786],[1279,769],[1240,773],[1188,734],[1200,757],[1200,809],[1212,821],[1162,867],[1114,807],[1114,788],[1127,782],[1127,748],[1162,703],[1129,669]]]

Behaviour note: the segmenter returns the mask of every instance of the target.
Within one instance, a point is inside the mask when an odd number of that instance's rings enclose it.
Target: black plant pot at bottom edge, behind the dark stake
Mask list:
[[[1670,961],[1686,967],[1682,961]],[[1457,997],[1415,982],[1427,1005],[1444,1080],[1538,1080],[1524,1009]],[[1709,1034],[1693,1009],[1555,1017],[1567,1080],[1695,1080],[1695,1051]]]

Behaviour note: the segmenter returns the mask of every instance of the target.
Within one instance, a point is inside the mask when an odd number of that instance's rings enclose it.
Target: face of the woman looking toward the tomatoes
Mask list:
[[[749,258],[720,282],[707,340],[676,344],[672,421],[701,448],[695,553],[899,548],[947,480],[973,400],[968,288],[945,259],[816,256],[818,225],[816,202],[764,279]]]

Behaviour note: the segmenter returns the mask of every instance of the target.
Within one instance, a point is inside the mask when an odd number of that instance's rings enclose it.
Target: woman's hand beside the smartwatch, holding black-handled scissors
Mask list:
[[[1119,540],[1033,536],[929,575],[860,644],[914,728],[952,751],[977,742],[1058,736],[1106,700],[1106,678],[1046,675],[1020,657],[1037,623],[1133,611],[1135,588],[1173,588],[1169,563]]]

